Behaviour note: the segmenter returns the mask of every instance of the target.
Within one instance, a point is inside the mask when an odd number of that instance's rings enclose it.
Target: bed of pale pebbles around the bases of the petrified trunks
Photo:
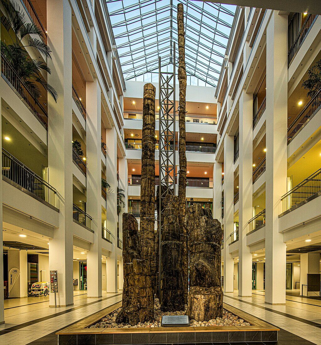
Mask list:
[[[89,328],[138,328],[138,327],[160,327],[162,316],[163,315],[184,315],[187,309],[187,305],[185,305],[185,311],[180,312],[162,312],[160,310],[160,304],[158,298],[155,298],[155,313],[154,313],[154,320],[151,322],[139,322],[135,326],[130,326],[129,324],[117,324],[116,316],[120,312],[120,308],[116,309],[113,313],[110,313],[100,319],[94,325],[91,325]],[[223,317],[217,317],[216,319],[208,320],[208,321],[189,321],[191,326],[194,327],[216,327],[216,326],[250,326],[248,322],[245,322],[243,319],[240,319],[238,316],[233,315],[226,310],[223,310]]]

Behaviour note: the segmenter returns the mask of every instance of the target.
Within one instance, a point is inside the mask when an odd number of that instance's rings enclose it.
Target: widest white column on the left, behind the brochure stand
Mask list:
[[[58,93],[57,103],[48,96],[49,183],[59,197],[59,228],[49,239],[49,270],[58,271],[57,306],[74,303],[72,286],[72,52],[71,8],[68,0],[47,1],[48,82]],[[54,294],[49,305],[54,306]]]

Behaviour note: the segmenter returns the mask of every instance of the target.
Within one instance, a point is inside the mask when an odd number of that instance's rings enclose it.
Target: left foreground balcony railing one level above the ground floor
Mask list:
[[[56,189],[2,149],[2,178],[35,199],[58,210]]]

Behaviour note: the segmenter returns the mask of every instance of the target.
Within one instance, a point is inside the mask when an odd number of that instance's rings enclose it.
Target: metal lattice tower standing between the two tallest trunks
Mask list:
[[[173,72],[162,72],[159,57],[159,288],[160,235],[164,228],[160,214],[166,195],[175,195],[175,42],[173,47]]]

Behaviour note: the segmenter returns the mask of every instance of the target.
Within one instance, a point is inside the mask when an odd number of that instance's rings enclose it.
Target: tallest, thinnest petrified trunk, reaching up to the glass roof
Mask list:
[[[177,5],[177,30],[178,30],[178,82],[179,82],[179,110],[178,110],[178,223],[181,228],[182,238],[182,274],[184,284],[184,300],[187,303],[188,287],[188,260],[187,260],[187,237],[184,224],[186,211],[186,131],[185,131],[185,103],[186,103],[186,67],[185,67],[185,31],[184,31],[184,7],[182,3]]]

